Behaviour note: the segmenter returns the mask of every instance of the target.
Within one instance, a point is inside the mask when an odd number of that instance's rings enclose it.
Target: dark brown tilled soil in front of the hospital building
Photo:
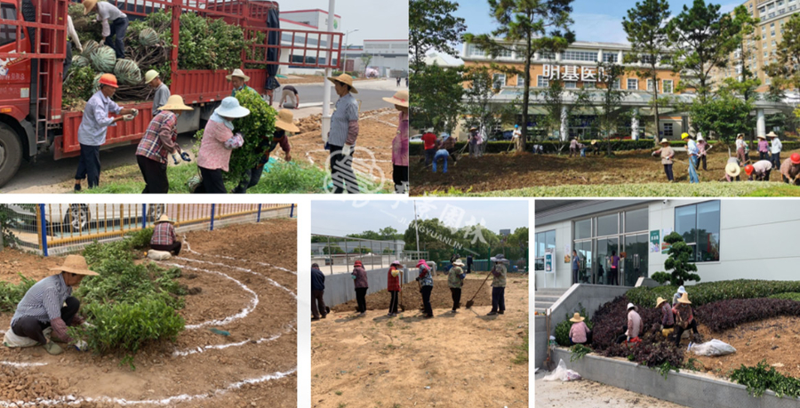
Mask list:
[[[800,150],[796,150],[800,152]],[[781,156],[795,151],[786,151]],[[751,154],[751,159],[754,157]],[[757,156],[756,156],[757,157]],[[688,182],[688,158],[677,153],[673,166],[676,182]],[[727,148],[712,149],[708,154],[708,171],[698,172],[700,181],[724,180],[724,166],[728,159]],[[472,192],[499,191],[536,186],[561,186],[572,184],[630,184],[667,182],[664,167],[658,157],[649,151],[620,152],[616,157],[567,155],[537,155],[508,153],[484,155],[480,158],[462,156],[457,165],[444,174],[431,172],[413,156],[411,168],[411,194],[459,188]],[[780,182],[780,173],[772,172],[772,182]]]

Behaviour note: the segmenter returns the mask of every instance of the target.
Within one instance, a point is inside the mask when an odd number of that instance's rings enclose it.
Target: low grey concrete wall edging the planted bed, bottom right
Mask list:
[[[665,380],[658,371],[625,360],[603,356],[584,356],[570,363],[570,351],[556,348],[555,361],[564,360],[567,367],[583,378],[624,388],[692,408],[796,408],[800,400],[775,396],[749,396],[747,388],[708,374],[669,372]]]

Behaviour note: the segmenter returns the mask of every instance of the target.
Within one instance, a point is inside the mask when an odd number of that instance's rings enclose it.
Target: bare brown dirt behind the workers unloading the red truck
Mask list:
[[[371,170],[373,176],[380,177],[379,172],[371,169],[374,166],[380,168],[384,178],[392,180],[392,140],[397,133],[397,115],[394,108],[369,110],[359,115],[356,147],[366,148],[374,157],[363,150],[356,150],[356,171]],[[324,150],[320,121],[320,115],[300,119],[300,133],[290,138],[293,160],[308,161],[324,168],[328,152]]]

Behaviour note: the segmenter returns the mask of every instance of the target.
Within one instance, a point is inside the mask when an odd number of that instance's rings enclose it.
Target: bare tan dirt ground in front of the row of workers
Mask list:
[[[506,304],[503,316],[381,309],[312,323],[312,406],[527,407],[528,364],[512,363],[528,328],[526,277],[508,279]]]

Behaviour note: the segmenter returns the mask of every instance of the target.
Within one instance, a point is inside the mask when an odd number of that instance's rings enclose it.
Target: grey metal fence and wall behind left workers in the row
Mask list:
[[[428,260],[427,251],[405,251],[403,241],[381,241],[311,234],[311,263],[319,264],[323,273],[350,272],[353,263],[361,260],[366,270],[388,268],[399,260],[404,266],[416,266],[417,260]],[[316,237],[316,239],[314,239]],[[313,241],[321,241],[314,243]]]

